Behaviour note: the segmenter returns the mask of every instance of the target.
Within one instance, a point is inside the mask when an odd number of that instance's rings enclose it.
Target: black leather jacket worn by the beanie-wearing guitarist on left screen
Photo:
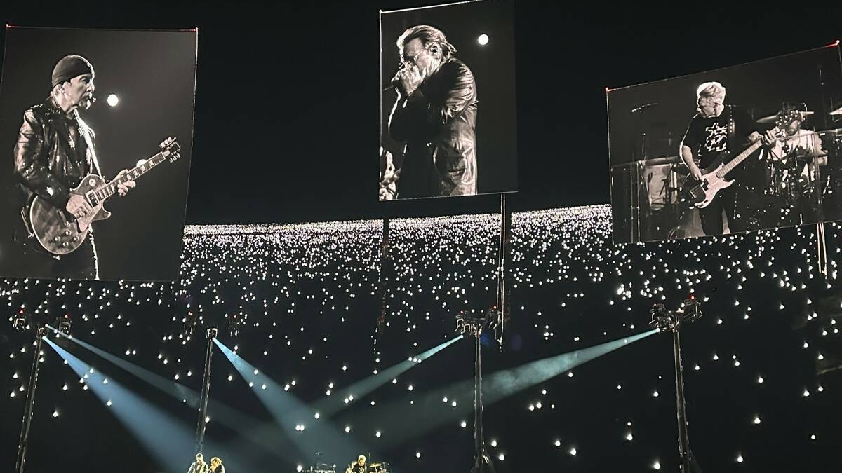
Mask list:
[[[37,194],[65,208],[70,190],[93,171],[88,144],[79,129],[77,120],[68,118],[53,98],[24,112],[14,146],[15,177],[24,201]],[[83,129],[93,135],[87,126]]]

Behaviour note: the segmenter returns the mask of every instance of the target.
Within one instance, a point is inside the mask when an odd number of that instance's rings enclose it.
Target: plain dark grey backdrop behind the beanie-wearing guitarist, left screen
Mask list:
[[[187,181],[193,141],[195,31],[116,31],[84,29],[6,29],[3,84],[0,89],[0,167],[3,189],[15,183],[13,147],[24,110],[49,96],[53,66],[67,54],[84,56],[95,72],[91,109],[80,112],[96,134],[99,166],[106,180],[152,157],[174,136],[181,146],[176,162],[163,162],[137,179],[125,198],[105,203],[111,218],[94,225],[101,279],[173,280],[179,272]],[[106,104],[114,93],[115,107]],[[0,228],[19,219],[19,209],[4,205]],[[3,243],[8,247],[8,231]],[[0,274],[14,274],[8,258]]]

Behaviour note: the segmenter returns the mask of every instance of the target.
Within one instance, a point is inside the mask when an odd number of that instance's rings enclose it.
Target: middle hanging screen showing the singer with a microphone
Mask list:
[[[381,12],[378,199],[516,192],[514,3]]]

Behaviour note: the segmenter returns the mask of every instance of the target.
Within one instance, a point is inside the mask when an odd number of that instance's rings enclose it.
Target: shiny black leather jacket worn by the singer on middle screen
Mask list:
[[[450,58],[408,98],[401,93],[389,133],[407,148],[398,198],[477,194],[477,83]]]

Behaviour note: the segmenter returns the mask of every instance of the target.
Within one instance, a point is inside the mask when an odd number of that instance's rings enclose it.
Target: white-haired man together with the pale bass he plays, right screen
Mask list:
[[[738,213],[736,189],[729,187],[731,179],[739,178],[734,168],[761,145],[775,142],[776,130],[761,135],[747,111],[724,100],[725,88],[719,82],[705,82],[696,89],[698,108],[679,146],[681,159],[690,169],[687,183],[697,184],[691,194],[706,235],[722,235],[723,211],[729,231],[747,229]]]

